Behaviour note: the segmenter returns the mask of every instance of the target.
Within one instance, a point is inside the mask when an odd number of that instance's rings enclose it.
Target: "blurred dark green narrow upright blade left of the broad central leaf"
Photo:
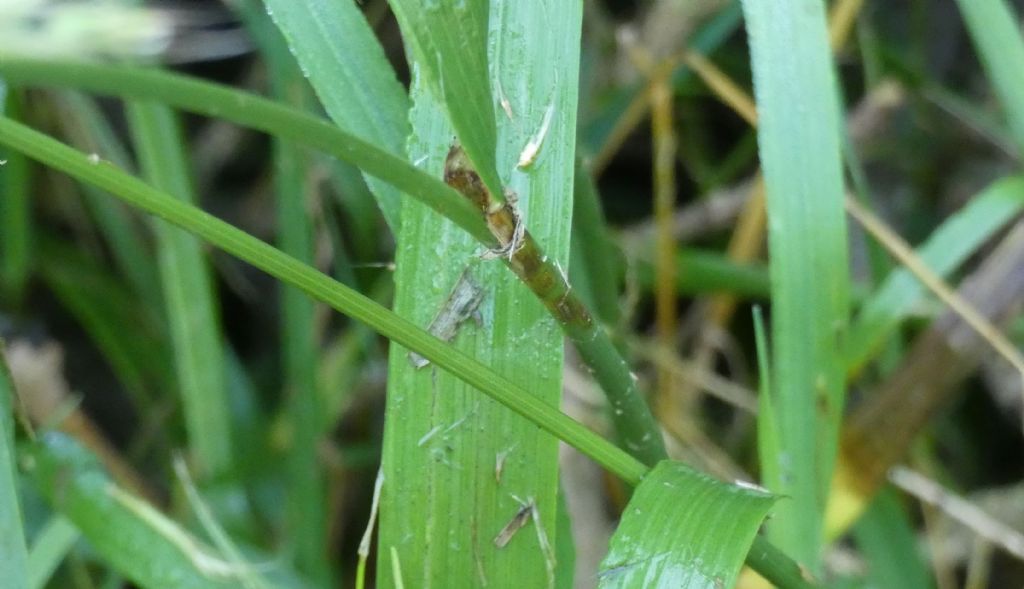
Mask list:
[[[307,4],[308,5],[308,4]],[[339,5],[339,3],[334,3]],[[303,4],[289,3],[289,15]],[[270,88],[281,101],[297,108],[312,104],[311,93],[281,33],[262,10],[261,2],[250,0],[240,4],[243,17],[254,32],[268,64]],[[309,42],[309,35],[303,36]],[[337,38],[339,36],[335,36]],[[302,47],[297,47],[302,49]],[[308,49],[308,48],[306,48]],[[309,52],[313,56],[315,53]],[[306,52],[299,51],[305,55]],[[345,60],[350,64],[354,60]],[[317,64],[316,67],[322,65]],[[339,65],[344,67],[344,65]],[[316,78],[322,79],[322,78]],[[371,124],[374,122],[370,120]],[[313,226],[308,195],[310,158],[295,144],[275,139],[273,142],[274,192],[278,215],[278,244],[281,251],[295,259],[313,262]],[[390,210],[397,220],[396,196],[381,193],[382,210]],[[390,198],[390,200],[388,200]],[[292,445],[288,464],[288,531],[295,554],[295,567],[307,573],[322,585],[331,583],[328,562],[328,521],[326,485],[319,452],[328,422],[324,420],[317,398],[317,334],[315,306],[302,291],[283,287],[281,292],[282,366],[285,395],[289,404]]]

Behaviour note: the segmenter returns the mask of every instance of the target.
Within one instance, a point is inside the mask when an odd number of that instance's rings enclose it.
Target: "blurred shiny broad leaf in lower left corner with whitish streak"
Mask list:
[[[67,435],[42,434],[24,453],[29,474],[53,508],[119,574],[153,589],[240,587],[238,567],[145,501],[117,487]],[[266,572],[295,587],[280,570]]]

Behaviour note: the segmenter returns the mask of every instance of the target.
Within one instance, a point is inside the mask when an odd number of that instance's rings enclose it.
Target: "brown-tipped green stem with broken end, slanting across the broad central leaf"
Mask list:
[[[611,338],[572,292],[561,267],[544,254],[523,227],[515,205],[499,204],[492,199],[472,163],[458,146],[449,153],[444,181],[462,193],[486,218],[490,233],[502,244],[496,255],[506,259],[509,268],[548,307],[584,363],[594,371],[594,378],[608,396],[622,445],[648,466],[667,458],[660,429],[637,387],[636,377]]]

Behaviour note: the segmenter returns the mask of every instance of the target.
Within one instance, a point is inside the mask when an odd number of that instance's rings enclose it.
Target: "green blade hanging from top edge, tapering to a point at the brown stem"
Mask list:
[[[492,80],[487,68],[488,0],[432,0],[427,3],[420,0],[390,0],[389,4],[401,27],[402,38],[412,48],[411,60],[416,61],[422,80],[437,103],[447,113],[459,141],[483,183],[492,195],[501,198],[504,184],[498,169],[498,162],[502,160],[495,153],[498,145],[496,104],[490,84],[487,83]],[[537,9],[550,8],[544,4]],[[495,18],[495,22],[498,20],[499,18]],[[547,23],[557,25],[554,20]],[[511,48],[513,51],[522,52],[528,48],[524,39],[512,39],[511,36],[498,36],[495,42],[497,71],[494,80],[500,94],[498,98],[511,104],[514,97],[501,95],[502,78],[515,78],[516,73],[501,71],[503,61],[499,55],[509,50],[502,44],[522,44]],[[561,83],[574,85],[575,77],[561,80]],[[517,93],[519,90],[508,88],[510,93]],[[552,97],[553,94],[545,98]],[[513,117],[522,116],[514,108],[511,110]],[[543,117],[537,120],[539,126],[542,120]],[[535,130],[530,130],[530,134]]]

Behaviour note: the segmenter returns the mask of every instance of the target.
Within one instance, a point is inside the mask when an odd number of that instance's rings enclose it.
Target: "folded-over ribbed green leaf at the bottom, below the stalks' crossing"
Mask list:
[[[774,503],[767,492],[662,461],[626,506],[601,562],[599,586],[733,587]]]

